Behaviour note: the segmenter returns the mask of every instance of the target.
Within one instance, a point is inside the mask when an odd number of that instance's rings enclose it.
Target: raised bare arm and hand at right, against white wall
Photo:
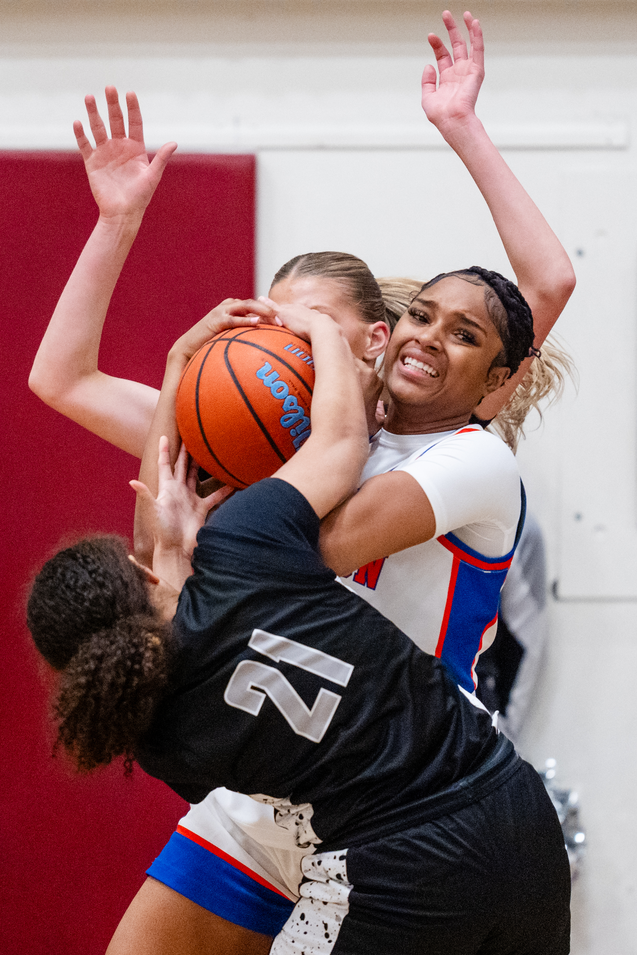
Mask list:
[[[535,346],[540,348],[575,287],[573,266],[476,116],[476,100],[484,78],[484,41],[479,21],[469,12],[464,14],[471,41],[467,53],[451,13],[444,11],[442,18],[449,32],[453,58],[442,40],[430,33],[440,81],[436,89],[435,67],[426,66],[422,74],[422,108],[462,159],[489,206],[520,292],[533,312]],[[488,263],[478,265],[488,267]],[[522,362],[510,381],[484,398],[479,406],[480,417],[492,418],[499,413],[528,371],[529,363],[530,359]]]

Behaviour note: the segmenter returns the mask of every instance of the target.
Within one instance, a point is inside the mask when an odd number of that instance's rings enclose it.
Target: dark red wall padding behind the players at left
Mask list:
[[[100,367],[159,388],[167,350],[230,295],[254,293],[250,156],[170,160],[124,266]],[[47,689],[24,625],[33,570],[63,535],[130,538],[138,461],[28,389],[33,356],[96,223],[82,160],[0,153],[2,374],[2,762],[0,947],[6,955],[102,953],[144,870],[185,809],[121,763],[79,778],[52,759]]]

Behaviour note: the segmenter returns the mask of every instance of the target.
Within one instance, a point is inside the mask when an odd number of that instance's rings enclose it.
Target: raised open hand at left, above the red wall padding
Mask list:
[[[177,143],[164,143],[153,161],[149,162],[138,97],[135,93],[126,94],[126,136],[117,90],[115,86],[107,86],[105,92],[111,138],[97,112],[96,97],[86,96],[84,102],[96,148],[91,145],[79,119],[73,124],[75,139],[84,159],[100,216],[104,219],[131,217],[140,220],[158,186],[166,162],[177,149]]]

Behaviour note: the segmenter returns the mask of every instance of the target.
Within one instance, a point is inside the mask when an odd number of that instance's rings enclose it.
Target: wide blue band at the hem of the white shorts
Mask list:
[[[290,899],[180,833],[173,833],[146,874],[227,922],[264,935],[277,935],[294,908]]]

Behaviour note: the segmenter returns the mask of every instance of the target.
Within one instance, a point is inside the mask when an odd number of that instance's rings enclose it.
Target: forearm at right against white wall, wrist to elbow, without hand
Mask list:
[[[541,345],[575,286],[563,245],[475,115],[442,125],[440,132],[489,206],[520,291],[533,311],[536,346]]]

